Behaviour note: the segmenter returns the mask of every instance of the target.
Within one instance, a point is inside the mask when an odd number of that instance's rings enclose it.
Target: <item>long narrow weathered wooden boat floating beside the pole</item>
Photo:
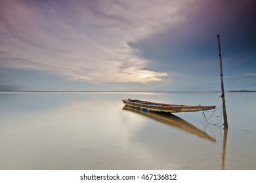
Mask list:
[[[194,112],[202,110],[214,109],[214,105],[172,105],[165,103],[155,103],[150,101],[141,101],[138,99],[123,99],[125,105],[140,108],[142,110],[156,111],[156,112]]]

